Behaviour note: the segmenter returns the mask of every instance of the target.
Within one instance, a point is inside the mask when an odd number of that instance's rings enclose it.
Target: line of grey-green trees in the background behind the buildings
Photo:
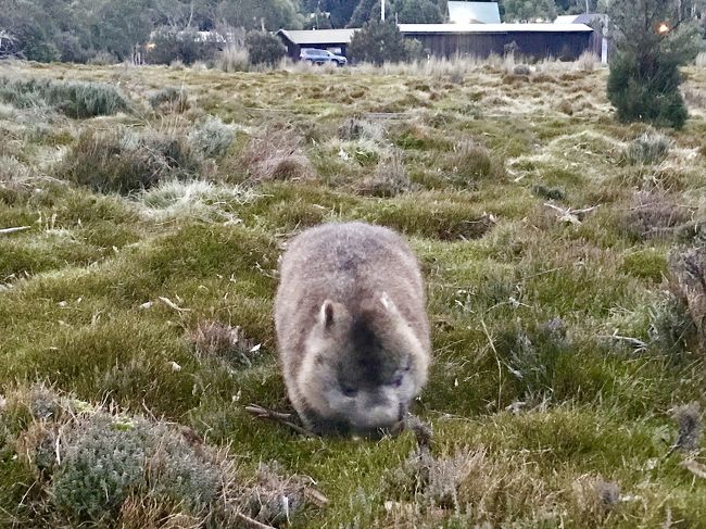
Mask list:
[[[88,62],[124,61],[136,47],[176,42],[179,32],[362,27],[379,18],[381,0],[0,0],[0,58]],[[642,1],[642,0],[639,0]],[[706,21],[706,0],[675,0],[692,18]],[[618,0],[500,0],[505,22],[551,21],[558,14],[607,12]],[[622,5],[626,5],[622,3]],[[626,9],[631,10],[631,2]],[[445,21],[446,0],[386,0],[399,23]],[[634,9],[634,5],[632,7]],[[241,42],[244,37],[241,38]],[[173,54],[174,55],[174,54]],[[189,50],[177,55],[189,56]],[[165,55],[166,56],[166,55]]]

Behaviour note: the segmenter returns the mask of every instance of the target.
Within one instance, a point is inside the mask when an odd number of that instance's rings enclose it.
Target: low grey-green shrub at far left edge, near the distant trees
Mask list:
[[[0,77],[0,101],[25,109],[46,104],[70,117],[112,115],[128,110],[125,96],[103,83]]]

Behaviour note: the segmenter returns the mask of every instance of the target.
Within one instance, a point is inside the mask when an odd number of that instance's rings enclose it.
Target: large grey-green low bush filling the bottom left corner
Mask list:
[[[35,476],[38,493],[25,495],[33,527],[105,527],[111,518],[139,527],[136,520],[169,512],[189,527],[280,525],[311,497],[308,481],[282,477],[274,462],[241,477],[225,451],[190,428],[106,412],[43,387],[0,399],[0,451]]]

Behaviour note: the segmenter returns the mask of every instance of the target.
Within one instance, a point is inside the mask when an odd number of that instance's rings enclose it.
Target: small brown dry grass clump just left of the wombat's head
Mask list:
[[[201,360],[220,358],[249,367],[260,353],[259,344],[245,338],[240,327],[220,322],[201,322],[186,339]]]

